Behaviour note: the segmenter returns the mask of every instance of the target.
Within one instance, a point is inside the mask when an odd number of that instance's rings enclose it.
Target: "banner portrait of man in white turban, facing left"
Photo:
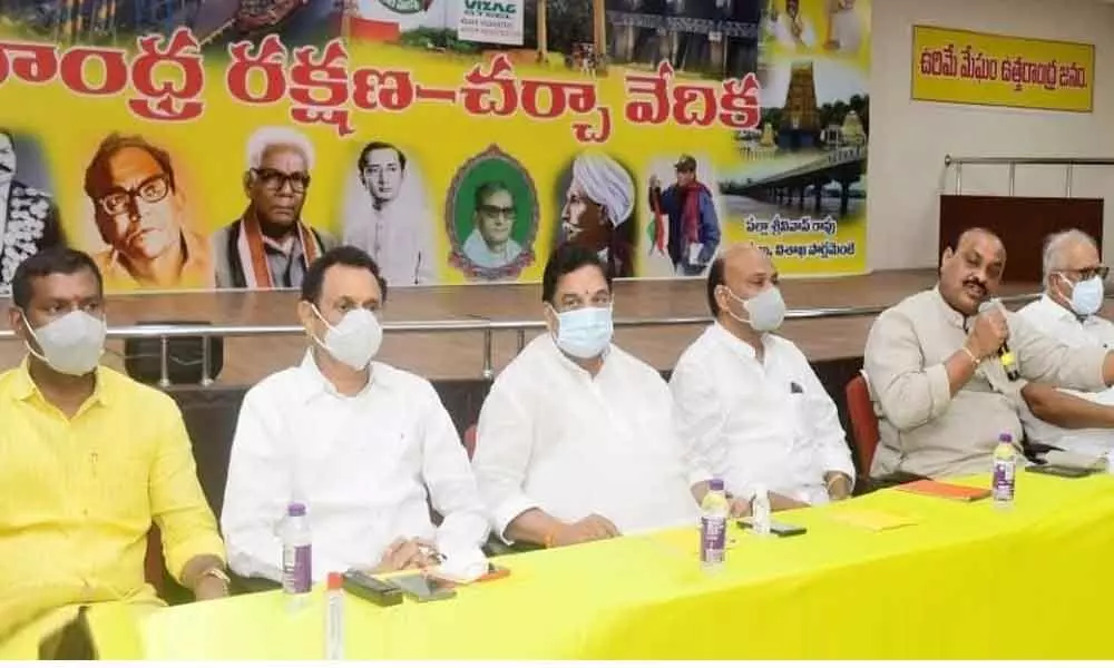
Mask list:
[[[634,214],[634,179],[609,156],[585,153],[573,161],[560,213],[564,240],[598,254],[613,278],[634,276],[629,235],[623,234],[629,226],[620,229]]]

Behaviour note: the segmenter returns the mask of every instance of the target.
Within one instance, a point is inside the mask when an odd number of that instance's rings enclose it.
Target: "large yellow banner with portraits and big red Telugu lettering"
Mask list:
[[[0,289],[864,273],[869,0],[2,0]]]

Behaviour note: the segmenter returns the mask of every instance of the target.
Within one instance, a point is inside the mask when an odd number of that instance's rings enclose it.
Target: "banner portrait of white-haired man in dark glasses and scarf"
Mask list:
[[[290,128],[260,128],[247,140],[247,208],[211,239],[217,287],[297,287],[306,267],[336,246],[302,220],[313,158],[310,140]]]

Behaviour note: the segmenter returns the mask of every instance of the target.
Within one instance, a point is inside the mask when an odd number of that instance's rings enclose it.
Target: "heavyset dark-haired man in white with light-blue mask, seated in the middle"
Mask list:
[[[496,531],[549,548],[695,525],[709,477],[686,463],[665,381],[612,344],[607,266],[565,244],[541,281],[548,332],[480,411],[472,468]]]

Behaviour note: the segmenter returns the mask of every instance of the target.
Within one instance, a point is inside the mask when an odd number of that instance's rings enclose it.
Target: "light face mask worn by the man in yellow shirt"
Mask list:
[[[71,311],[38,330],[31,328],[25,313],[23,323],[42,351],[36,351],[25,341],[28,352],[58,373],[85,375],[97,367],[105,353],[105,336],[108,333],[105,321],[85,311]]]

